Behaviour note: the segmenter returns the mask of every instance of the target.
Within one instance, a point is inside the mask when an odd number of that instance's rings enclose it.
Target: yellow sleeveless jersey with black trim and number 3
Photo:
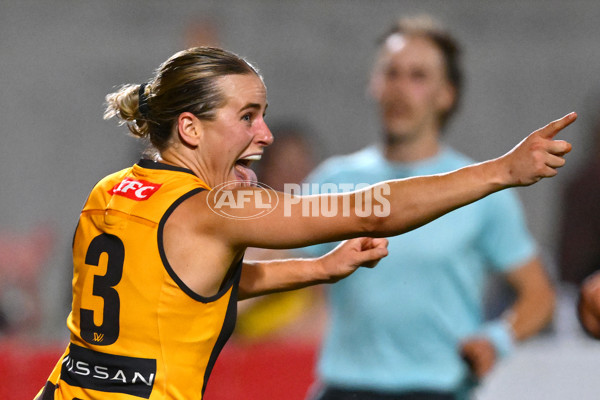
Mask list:
[[[190,170],[149,160],[94,187],[73,239],[71,340],[44,398],[202,398],[235,325],[241,262],[202,297],[169,266],[162,234],[177,205],[204,189]]]

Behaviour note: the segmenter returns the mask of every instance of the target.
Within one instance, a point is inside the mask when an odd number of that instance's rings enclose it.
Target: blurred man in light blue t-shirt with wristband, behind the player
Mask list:
[[[381,142],[326,160],[307,182],[371,184],[473,163],[443,142],[462,75],[459,46],[438,22],[399,20],[379,42],[370,82]],[[318,255],[332,246],[306,250]],[[468,398],[515,341],[552,318],[553,286],[513,191],[390,238],[389,253],[376,270],[327,288],[314,399]],[[516,300],[485,321],[485,284],[496,272]]]

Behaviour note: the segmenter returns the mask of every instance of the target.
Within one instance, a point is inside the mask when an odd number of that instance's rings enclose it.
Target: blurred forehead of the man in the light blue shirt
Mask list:
[[[381,46],[377,65],[380,68],[419,67],[443,71],[445,60],[433,40],[425,36],[394,34]]]

